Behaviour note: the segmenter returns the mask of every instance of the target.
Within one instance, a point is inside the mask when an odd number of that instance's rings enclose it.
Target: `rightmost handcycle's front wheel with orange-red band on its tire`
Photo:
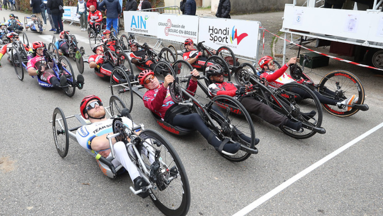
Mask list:
[[[334,100],[343,101],[352,95],[358,97],[356,104],[364,103],[364,88],[360,80],[352,73],[343,70],[331,71],[319,83],[319,93]],[[336,105],[322,104],[322,107],[330,114],[338,117],[354,115],[359,109],[352,108],[350,111],[338,108]]]

